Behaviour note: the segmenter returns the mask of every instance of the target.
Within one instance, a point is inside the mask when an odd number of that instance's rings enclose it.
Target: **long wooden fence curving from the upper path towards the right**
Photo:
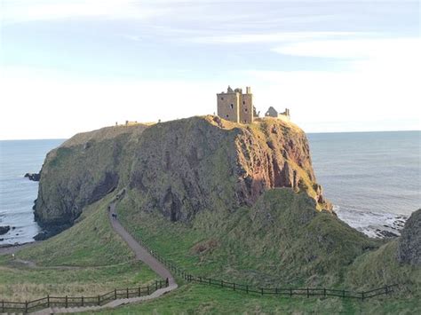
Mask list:
[[[374,297],[377,295],[390,295],[393,293],[393,290],[398,287],[397,284],[388,285],[385,287],[378,287],[369,291],[365,292],[356,292],[356,291],[350,291],[350,290],[340,290],[340,289],[332,289],[332,288],[326,288],[326,287],[304,287],[304,288],[296,288],[296,287],[253,287],[249,285],[244,285],[236,282],[229,282],[225,280],[217,280],[217,279],[211,279],[206,277],[198,277],[194,276],[191,273],[180,269],[177,265],[171,263],[171,261],[163,258],[163,256],[160,256],[158,253],[155,252],[155,250],[151,250],[150,246],[143,240],[141,240],[139,237],[137,237],[137,234],[133,231],[130,231],[131,235],[141,244],[144,248],[147,248],[147,250],[151,253],[152,256],[154,256],[158,261],[160,261],[162,264],[167,266],[171,270],[171,272],[174,272],[176,275],[181,277],[184,280],[195,282],[203,285],[209,285],[214,287],[225,287],[228,289],[232,289],[234,291],[242,291],[247,294],[255,294],[255,295],[281,295],[285,297],[292,297],[294,295],[298,296],[322,296],[322,297],[328,297],[328,296],[337,296],[341,298],[353,298],[353,299],[360,299],[363,301],[364,299]]]

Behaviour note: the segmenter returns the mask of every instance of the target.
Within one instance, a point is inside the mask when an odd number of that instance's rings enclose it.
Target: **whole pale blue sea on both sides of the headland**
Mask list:
[[[421,132],[307,134],[314,172],[338,217],[370,237],[399,235],[421,208]],[[33,204],[45,155],[64,139],[0,141],[0,246],[32,241]]]

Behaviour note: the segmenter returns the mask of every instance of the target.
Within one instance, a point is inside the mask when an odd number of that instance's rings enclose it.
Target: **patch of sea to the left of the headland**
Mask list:
[[[24,178],[25,173],[37,173],[45,154],[63,140],[0,141],[0,225],[15,226],[0,235],[1,244],[28,242],[38,232],[32,206],[38,193],[38,183]]]

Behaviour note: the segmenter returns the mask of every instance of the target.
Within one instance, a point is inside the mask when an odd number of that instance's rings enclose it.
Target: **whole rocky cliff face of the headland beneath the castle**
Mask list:
[[[275,119],[242,125],[206,116],[83,133],[52,150],[41,174],[36,218],[44,226],[73,224],[84,206],[123,187],[135,207],[171,221],[234,211],[274,187],[331,209],[305,133]]]

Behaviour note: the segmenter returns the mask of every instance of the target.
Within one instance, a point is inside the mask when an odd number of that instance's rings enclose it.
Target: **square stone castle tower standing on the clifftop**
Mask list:
[[[251,123],[253,122],[253,94],[250,87],[246,87],[245,94],[242,89],[228,89],[217,94],[218,116],[231,122]]]

